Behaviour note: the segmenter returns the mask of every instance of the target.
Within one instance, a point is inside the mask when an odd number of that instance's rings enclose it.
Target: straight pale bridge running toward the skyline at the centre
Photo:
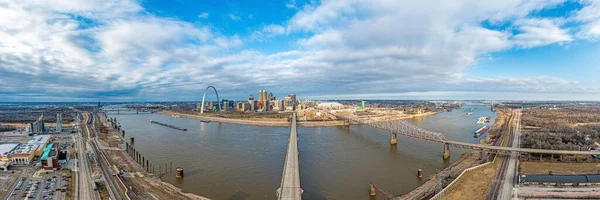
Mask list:
[[[290,140],[288,143],[281,185],[277,189],[277,199],[301,199],[300,166],[298,165],[298,132],[296,128],[296,112],[292,115]]]

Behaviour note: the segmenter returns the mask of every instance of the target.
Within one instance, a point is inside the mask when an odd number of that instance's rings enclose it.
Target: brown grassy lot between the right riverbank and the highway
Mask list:
[[[493,163],[463,174],[457,182],[448,188],[445,199],[486,199],[492,179],[500,162]]]

